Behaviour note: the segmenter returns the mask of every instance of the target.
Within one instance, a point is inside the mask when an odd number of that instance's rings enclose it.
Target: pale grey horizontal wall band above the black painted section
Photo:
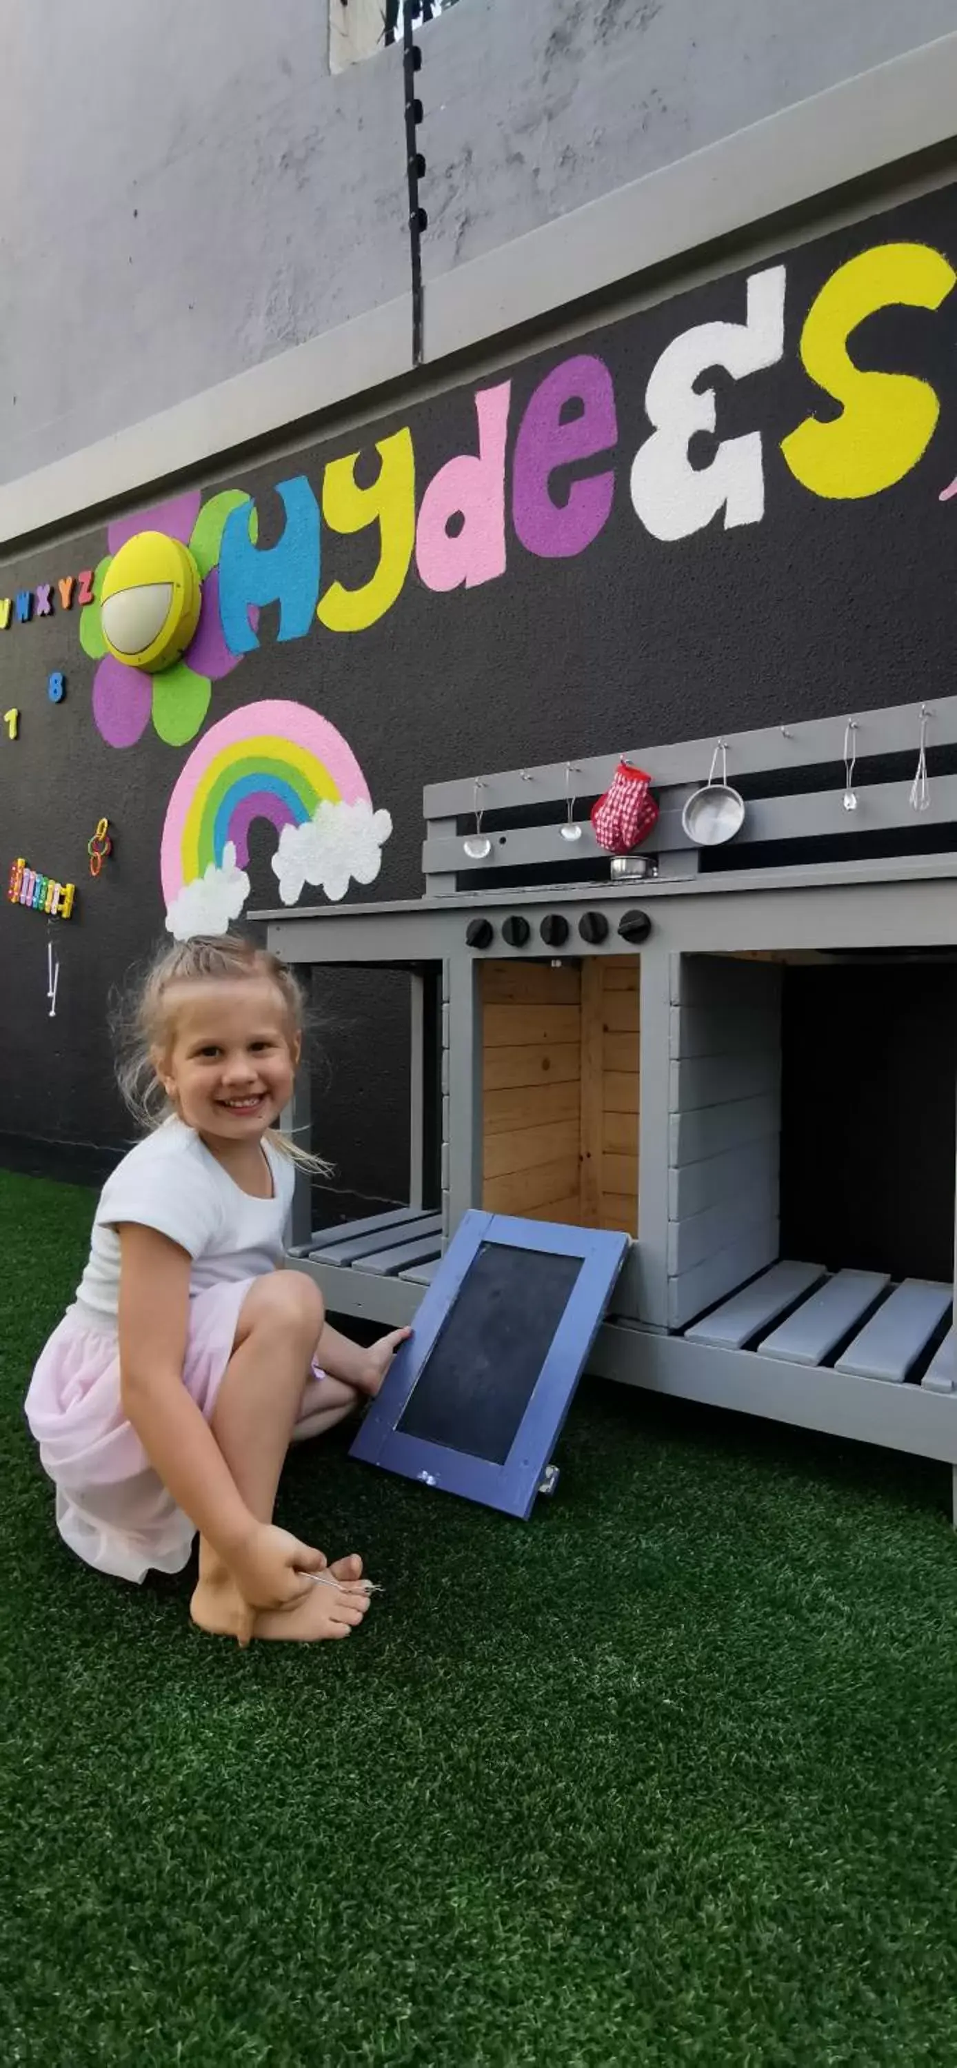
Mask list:
[[[674,165],[426,281],[426,360],[488,343],[666,261],[947,145],[957,128],[957,33],[891,58]],[[674,283],[670,287],[674,290]],[[124,496],[411,370],[411,298],[279,352],[159,416],[0,486],[0,542]]]

